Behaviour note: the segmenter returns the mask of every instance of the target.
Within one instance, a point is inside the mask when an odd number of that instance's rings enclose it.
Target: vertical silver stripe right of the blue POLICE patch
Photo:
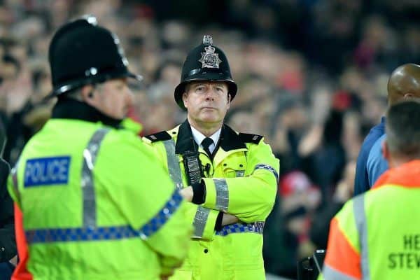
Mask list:
[[[94,195],[93,168],[101,142],[110,130],[101,128],[94,132],[83,151],[81,186],[83,188],[83,228],[96,227],[96,199]]]

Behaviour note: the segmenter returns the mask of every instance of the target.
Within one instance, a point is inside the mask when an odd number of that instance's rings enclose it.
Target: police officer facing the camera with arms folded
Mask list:
[[[145,137],[191,202],[191,248],[171,279],[265,279],[262,229],[274,204],[279,161],[262,136],[223,123],[236,94],[228,58],[204,36],[175,88],[187,120]]]

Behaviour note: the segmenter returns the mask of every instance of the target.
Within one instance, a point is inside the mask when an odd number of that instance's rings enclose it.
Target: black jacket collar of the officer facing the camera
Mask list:
[[[221,137],[216,149],[220,146],[223,151],[231,151],[240,148],[246,148],[244,141],[239,139],[238,134],[228,125],[223,124]],[[186,152],[197,152],[198,146],[194,141],[193,132],[191,132],[188,120],[179,126],[178,137],[176,140],[175,153],[184,155]],[[215,150],[216,151],[216,150]]]

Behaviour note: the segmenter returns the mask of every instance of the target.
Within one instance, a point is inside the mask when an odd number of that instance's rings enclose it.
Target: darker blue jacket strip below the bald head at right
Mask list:
[[[369,177],[367,175],[366,169],[367,158],[369,157],[370,150],[374,143],[384,134],[385,117],[382,117],[381,123],[372,127],[369,134],[367,134],[365,141],[363,141],[362,147],[360,148],[360,152],[356,162],[356,176],[354,178],[355,196],[359,195],[360,193],[364,193],[366,190],[370,189]]]

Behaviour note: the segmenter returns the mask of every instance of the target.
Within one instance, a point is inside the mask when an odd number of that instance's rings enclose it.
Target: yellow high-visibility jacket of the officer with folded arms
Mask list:
[[[188,186],[183,155],[189,152],[198,149],[205,176],[204,203],[188,204],[188,221],[195,227],[188,257],[170,279],[265,279],[262,228],[274,205],[279,160],[262,137],[223,125],[213,160],[197,147],[187,121],[146,140],[179,188]],[[216,232],[220,211],[241,223]]]

